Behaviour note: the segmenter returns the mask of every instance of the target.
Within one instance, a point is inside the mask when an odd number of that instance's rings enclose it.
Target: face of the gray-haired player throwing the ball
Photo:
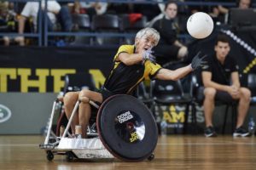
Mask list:
[[[155,46],[155,40],[153,37],[142,37],[136,39],[137,53],[140,53],[142,50],[147,50]]]

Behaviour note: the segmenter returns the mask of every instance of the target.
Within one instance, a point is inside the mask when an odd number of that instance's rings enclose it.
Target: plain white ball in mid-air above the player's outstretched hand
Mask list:
[[[212,17],[203,12],[192,14],[187,21],[187,30],[197,39],[208,37],[213,30]]]

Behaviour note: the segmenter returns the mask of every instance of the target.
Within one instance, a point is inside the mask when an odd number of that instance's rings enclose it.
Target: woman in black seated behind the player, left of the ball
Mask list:
[[[160,32],[160,42],[153,49],[160,65],[165,65],[172,60],[184,59],[188,54],[188,48],[177,40],[179,26],[175,1],[166,3],[165,14],[156,20],[152,27]]]

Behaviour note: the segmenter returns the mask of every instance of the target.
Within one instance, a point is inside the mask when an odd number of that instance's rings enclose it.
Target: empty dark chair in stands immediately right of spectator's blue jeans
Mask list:
[[[88,14],[72,15],[74,30],[78,32],[90,32],[90,17]],[[90,45],[92,37],[76,36],[74,41],[70,43],[73,46]]]

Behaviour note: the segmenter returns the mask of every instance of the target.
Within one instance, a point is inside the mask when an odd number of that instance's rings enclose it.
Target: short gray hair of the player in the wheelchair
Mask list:
[[[141,39],[143,37],[153,37],[155,40],[154,46],[156,46],[160,40],[160,34],[158,31],[156,31],[154,28],[146,27],[142,30],[138,31],[136,34],[135,39]]]

